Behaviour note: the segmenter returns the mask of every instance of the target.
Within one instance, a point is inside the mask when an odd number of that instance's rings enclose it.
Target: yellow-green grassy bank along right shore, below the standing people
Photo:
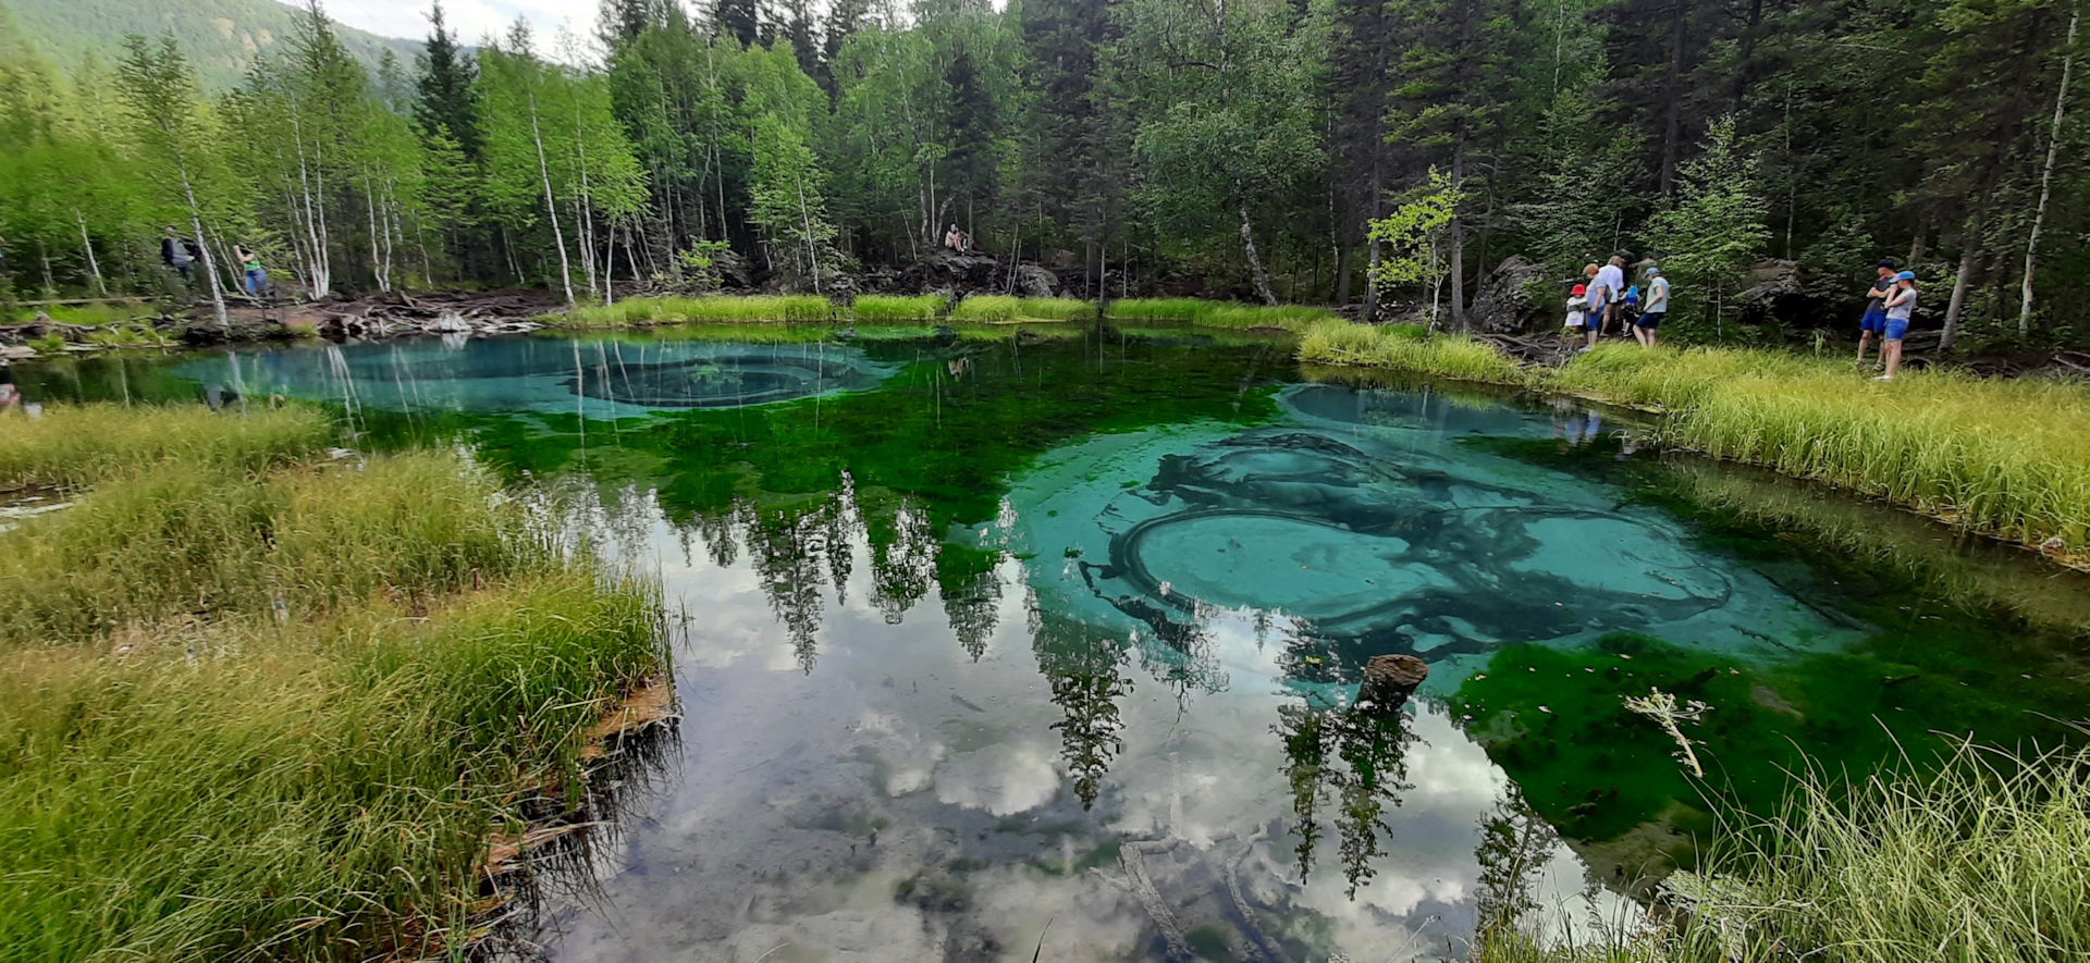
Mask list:
[[[1317,324],[1300,359],[1570,393],[1668,412],[1664,445],[1889,499],[2090,564],[2090,391],[1912,372],[1774,351],[1605,345],[1563,368],[1404,328]]]

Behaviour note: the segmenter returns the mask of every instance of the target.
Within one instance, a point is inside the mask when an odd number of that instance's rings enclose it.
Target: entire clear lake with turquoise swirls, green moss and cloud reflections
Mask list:
[[[2082,577],[1616,412],[1281,336],[823,334],[17,376],[462,443],[658,577],[683,723],[548,888],[562,961],[1457,959],[1505,907],[1632,919],[1808,756],[2075,737]],[[1392,652],[1427,683],[1358,710]],[[1705,779],[1649,689],[1712,706]]]

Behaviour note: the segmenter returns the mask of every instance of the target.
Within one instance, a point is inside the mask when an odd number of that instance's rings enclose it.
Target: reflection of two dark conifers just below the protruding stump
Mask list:
[[[1271,729],[1285,744],[1300,875],[1313,871],[1325,836],[1321,815],[1329,806],[1336,808],[1336,854],[1350,896],[1377,873],[1371,863],[1384,852],[1381,833],[1392,838],[1384,813],[1415,788],[1407,781],[1409,744],[1417,742],[1409,721],[1407,710],[1375,712],[1315,698],[1277,708]]]

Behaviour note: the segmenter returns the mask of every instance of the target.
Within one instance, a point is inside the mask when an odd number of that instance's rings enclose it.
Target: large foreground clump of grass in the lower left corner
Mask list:
[[[462,950],[485,838],[658,671],[585,568],[426,614],[232,620],[0,673],[0,940],[25,959]]]

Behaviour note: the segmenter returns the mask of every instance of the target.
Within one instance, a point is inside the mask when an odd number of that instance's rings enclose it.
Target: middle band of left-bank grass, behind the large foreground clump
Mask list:
[[[451,451],[259,480],[163,464],[6,535],[0,643],[428,597],[548,564],[535,545],[520,510]]]

